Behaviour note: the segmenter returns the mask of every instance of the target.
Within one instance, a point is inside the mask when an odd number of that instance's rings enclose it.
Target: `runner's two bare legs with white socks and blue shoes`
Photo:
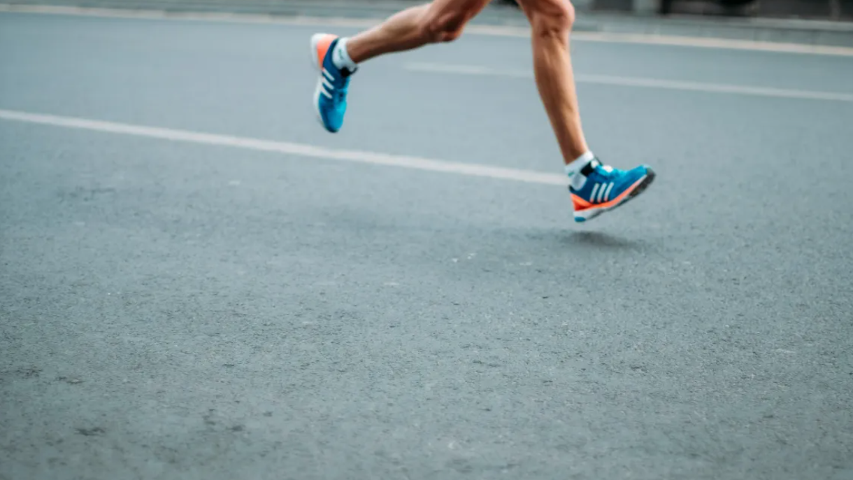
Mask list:
[[[319,79],[317,114],[330,132],[338,132],[346,110],[349,79],[358,63],[375,56],[449,42],[490,0],[434,0],[393,15],[380,26],[352,38],[316,34],[311,38]],[[577,91],[569,54],[575,10],[569,0],[519,0],[531,24],[531,47],[537,88],[560,145],[575,221],[583,222],[639,195],[655,173],[640,165],[630,170],[603,165],[583,136]]]

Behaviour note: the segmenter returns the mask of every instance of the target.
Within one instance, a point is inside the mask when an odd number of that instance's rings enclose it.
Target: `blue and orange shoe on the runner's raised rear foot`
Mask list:
[[[333,133],[344,125],[350,75],[356,73],[355,70],[334,66],[332,52],[338,40],[338,36],[329,33],[317,33],[311,37],[311,59],[317,73],[320,73],[314,91],[314,107],[322,126]]]

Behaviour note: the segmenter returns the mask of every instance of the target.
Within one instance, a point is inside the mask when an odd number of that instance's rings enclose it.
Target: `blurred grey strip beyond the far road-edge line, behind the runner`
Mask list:
[[[7,0],[5,5],[381,19],[426,0]],[[526,26],[517,0],[473,23]],[[621,32],[853,46],[853,0],[572,0],[576,32]]]

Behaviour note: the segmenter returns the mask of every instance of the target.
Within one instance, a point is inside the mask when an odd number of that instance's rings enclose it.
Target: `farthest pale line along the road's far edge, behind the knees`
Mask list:
[[[88,7],[63,7],[58,5],[20,5],[14,3],[0,3],[0,12],[147,20],[272,23],[292,26],[341,26],[347,28],[368,28],[376,26],[382,21],[382,19],[351,19],[310,16],[281,17],[276,15],[219,12],[180,13],[167,12],[165,10],[98,9]],[[466,34],[491,35],[498,37],[530,37],[530,29],[523,26],[471,25],[467,26],[465,32]],[[734,38],[681,37],[676,35],[655,35],[647,33],[573,32],[572,39],[580,42],[669,45],[721,50],[752,50],[775,53],[853,56],[853,48],[850,47],[760,42],[754,40],[737,40]]]

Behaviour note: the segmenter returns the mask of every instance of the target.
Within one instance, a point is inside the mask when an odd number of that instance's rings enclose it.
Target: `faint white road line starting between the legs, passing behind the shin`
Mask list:
[[[496,77],[512,77],[532,79],[533,73],[526,70],[505,70],[489,67],[471,67],[467,65],[445,65],[442,63],[407,63],[406,70],[432,73],[457,73],[461,75],[490,75]],[[619,85],[647,88],[662,88],[669,90],[704,91],[709,93],[733,93],[739,95],[754,95],[758,97],[799,98],[807,100],[828,100],[831,102],[853,102],[853,94],[835,91],[805,91],[787,90],[773,87],[757,87],[746,85],[710,84],[702,82],[686,82],[680,80],[641,79],[635,77],[617,77],[612,75],[583,75],[576,74],[578,84]]]

